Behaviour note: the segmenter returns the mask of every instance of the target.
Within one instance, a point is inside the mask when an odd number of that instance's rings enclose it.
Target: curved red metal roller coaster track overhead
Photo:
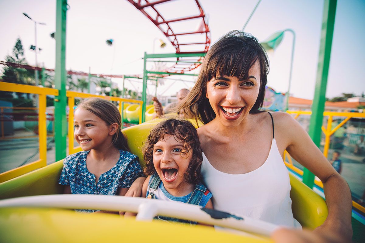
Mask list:
[[[205,21],[205,13],[203,11],[203,8],[201,8],[201,5],[198,0],[195,0],[196,6],[192,6],[192,7],[197,7],[199,9],[199,12],[200,12],[199,15],[180,17],[178,19],[171,19],[171,20],[165,20],[165,18],[162,16],[162,14],[155,8],[155,5],[166,3],[169,1],[174,1],[174,0],[157,0],[154,2],[151,2],[148,0],[127,0],[127,1],[129,1],[131,4],[133,4],[135,8],[137,8],[139,11],[141,11],[149,20],[151,20],[151,22],[153,24],[155,24],[155,26],[157,26],[157,28],[169,39],[172,46],[176,49],[176,53],[201,54],[201,53],[206,53],[208,51],[210,42],[211,42],[210,30],[209,30],[208,23],[206,23],[206,21]],[[147,13],[145,11],[145,8],[147,8],[147,7],[151,7],[151,9],[153,9],[156,17],[152,17],[149,13]],[[185,20],[199,19],[199,18],[201,19],[201,25],[200,25],[199,30],[193,30],[193,28],[195,28],[195,26],[191,26],[192,31],[190,31],[190,32],[176,33],[169,25],[170,23],[177,22],[177,21],[185,21]],[[167,30],[164,30],[164,28],[161,27],[162,24],[167,26]],[[205,34],[205,42],[179,43],[176,38],[176,36],[180,36],[180,35],[187,36],[187,35],[195,35],[195,34]],[[203,45],[203,44],[204,44],[204,48],[202,48],[201,51],[180,51],[180,46],[194,46],[194,45]],[[177,58],[176,63],[174,64],[174,66],[172,66],[170,68],[170,70],[168,70],[168,72],[183,73],[186,71],[191,71],[200,65],[203,58],[197,57],[195,60],[189,60],[189,61],[191,61],[191,64],[184,65],[185,67],[181,67],[183,64],[181,64],[181,63],[179,64],[178,60],[184,60],[184,59]],[[186,60],[184,60],[184,61],[186,61]]]

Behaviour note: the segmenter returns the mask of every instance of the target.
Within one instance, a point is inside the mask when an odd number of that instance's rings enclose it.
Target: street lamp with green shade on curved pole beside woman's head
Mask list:
[[[285,29],[283,31],[275,32],[274,34],[270,35],[266,40],[261,42],[262,47],[265,50],[275,50],[281,43],[284,38],[284,32],[289,31],[293,34],[293,44],[292,44],[292,56],[291,56],[291,64],[290,64],[290,73],[289,73],[289,85],[288,91],[285,93],[286,103],[285,103],[285,111],[289,109],[289,92],[292,83],[292,72],[293,72],[293,61],[294,61],[294,49],[295,49],[295,32],[292,29]]]

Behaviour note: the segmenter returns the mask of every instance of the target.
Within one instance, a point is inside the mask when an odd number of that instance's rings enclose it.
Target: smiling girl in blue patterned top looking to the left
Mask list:
[[[64,193],[124,196],[133,181],[143,176],[138,157],[128,149],[121,125],[119,110],[109,101],[91,98],[78,105],[74,138],[84,151],[64,160],[58,181],[65,185]]]

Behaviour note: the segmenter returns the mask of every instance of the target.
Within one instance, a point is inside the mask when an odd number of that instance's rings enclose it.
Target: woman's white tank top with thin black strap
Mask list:
[[[289,173],[275,138],[264,164],[245,174],[218,171],[202,154],[201,174],[213,195],[214,209],[281,226],[301,228],[293,217]]]

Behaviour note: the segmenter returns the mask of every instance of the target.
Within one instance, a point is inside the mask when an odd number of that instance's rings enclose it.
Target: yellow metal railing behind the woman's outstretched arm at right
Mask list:
[[[287,113],[295,114],[294,119],[297,119],[300,115],[311,115],[312,111],[291,111],[291,110],[288,110]],[[365,118],[365,113],[324,111],[323,116],[324,117],[328,116],[327,128],[322,126],[322,132],[324,133],[324,136],[325,136],[323,155],[327,158],[328,150],[330,148],[330,137],[332,136],[332,134],[334,134],[339,128],[341,128],[347,121],[349,121],[353,117]],[[345,119],[343,119],[343,121],[340,122],[337,126],[332,128],[333,117],[345,117]],[[293,165],[292,158],[290,157],[290,154],[287,152],[287,150],[284,151],[283,159],[284,159],[285,165],[288,168],[295,171],[299,175],[303,176],[303,171]],[[288,159],[288,162],[287,162],[287,159]],[[323,188],[322,181],[320,181],[318,179],[315,179],[314,183],[316,185],[318,185],[319,187]],[[352,201],[352,205],[353,205],[354,208],[357,208],[360,211],[365,213],[365,208],[362,207],[360,204],[356,203],[355,201]]]

